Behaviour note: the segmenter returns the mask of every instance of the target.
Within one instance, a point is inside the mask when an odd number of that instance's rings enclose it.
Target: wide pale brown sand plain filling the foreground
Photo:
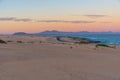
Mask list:
[[[0,80],[120,80],[119,45],[95,49],[55,37],[0,38],[12,41],[0,44]]]

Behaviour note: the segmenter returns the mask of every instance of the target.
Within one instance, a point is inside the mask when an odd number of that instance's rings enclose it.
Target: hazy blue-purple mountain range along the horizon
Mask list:
[[[35,35],[35,36],[69,36],[69,35],[76,35],[76,34],[113,34],[113,32],[88,32],[88,31],[80,31],[80,32],[62,32],[57,30],[52,31],[43,31],[40,33],[25,33],[25,32],[16,32],[13,35]]]

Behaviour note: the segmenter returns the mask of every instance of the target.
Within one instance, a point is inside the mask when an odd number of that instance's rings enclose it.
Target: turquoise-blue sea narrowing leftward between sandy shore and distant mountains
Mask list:
[[[101,41],[104,44],[120,44],[120,33],[55,33],[49,36],[71,36]]]

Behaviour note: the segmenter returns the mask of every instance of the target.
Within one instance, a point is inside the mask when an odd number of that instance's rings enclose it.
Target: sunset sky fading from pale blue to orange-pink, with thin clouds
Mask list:
[[[0,34],[120,32],[120,0],[0,0]]]

